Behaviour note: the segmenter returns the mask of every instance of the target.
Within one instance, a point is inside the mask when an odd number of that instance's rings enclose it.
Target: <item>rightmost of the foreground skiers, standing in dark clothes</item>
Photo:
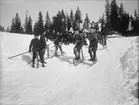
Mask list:
[[[97,57],[96,57],[96,51],[98,48],[98,33],[96,32],[94,27],[90,28],[90,32],[88,34],[88,40],[90,42],[89,44],[89,49],[88,49],[88,53],[90,54],[90,59],[89,61],[93,61],[96,62],[97,61]],[[92,55],[93,52],[93,55]]]

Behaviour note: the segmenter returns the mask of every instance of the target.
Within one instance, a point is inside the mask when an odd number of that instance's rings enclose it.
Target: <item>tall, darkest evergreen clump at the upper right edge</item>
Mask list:
[[[139,34],[139,14],[136,10],[134,16],[124,11],[124,6],[121,3],[117,5],[116,0],[109,2],[106,0],[105,5],[106,26],[109,30],[117,31],[123,35],[127,32],[135,32]]]

